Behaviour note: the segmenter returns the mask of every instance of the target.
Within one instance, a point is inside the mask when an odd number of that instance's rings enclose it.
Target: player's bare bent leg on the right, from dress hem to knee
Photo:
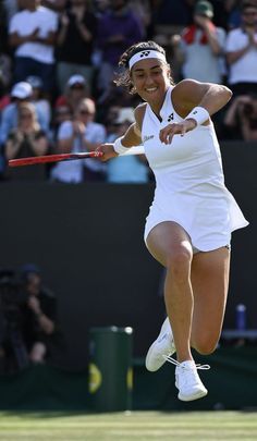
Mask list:
[[[230,272],[230,250],[197,253],[192,262],[194,295],[191,344],[200,354],[217,347],[222,330]]]

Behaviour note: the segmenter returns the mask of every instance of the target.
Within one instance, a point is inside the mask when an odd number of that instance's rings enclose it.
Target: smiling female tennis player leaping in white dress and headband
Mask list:
[[[156,371],[166,360],[173,363],[179,399],[197,400],[207,394],[197,369],[209,366],[196,365],[191,348],[210,354],[217,346],[228,295],[231,233],[248,224],[224,185],[211,122],[232,93],[193,79],[174,85],[166,52],[154,41],[130,47],[120,66],[124,72],[117,85],[145,102],[135,109],[136,122],[124,136],[99,149],[108,160],[144,144],[156,177],[145,242],[167,268],[168,318],[147,353],[146,367]]]

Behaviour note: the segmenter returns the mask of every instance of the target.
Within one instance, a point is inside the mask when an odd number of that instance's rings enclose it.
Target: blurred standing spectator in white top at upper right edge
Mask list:
[[[235,95],[257,94],[257,5],[243,3],[242,24],[227,40],[228,83]]]

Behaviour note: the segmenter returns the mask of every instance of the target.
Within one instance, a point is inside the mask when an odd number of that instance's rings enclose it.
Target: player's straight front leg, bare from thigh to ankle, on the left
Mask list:
[[[164,301],[179,363],[192,359],[191,327],[193,316],[193,292],[191,265],[193,250],[185,230],[175,222],[156,225],[147,237],[151,255],[167,268]]]

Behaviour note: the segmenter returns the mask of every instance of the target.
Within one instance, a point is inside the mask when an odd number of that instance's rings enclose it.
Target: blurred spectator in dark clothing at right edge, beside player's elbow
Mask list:
[[[235,97],[224,115],[224,126],[229,139],[257,140],[257,96]]]

